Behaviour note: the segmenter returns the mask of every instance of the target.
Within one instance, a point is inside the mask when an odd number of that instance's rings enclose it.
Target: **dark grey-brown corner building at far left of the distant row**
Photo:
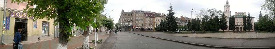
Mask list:
[[[133,31],[133,12],[124,12],[123,10],[120,13],[119,18],[119,28],[122,31]]]

